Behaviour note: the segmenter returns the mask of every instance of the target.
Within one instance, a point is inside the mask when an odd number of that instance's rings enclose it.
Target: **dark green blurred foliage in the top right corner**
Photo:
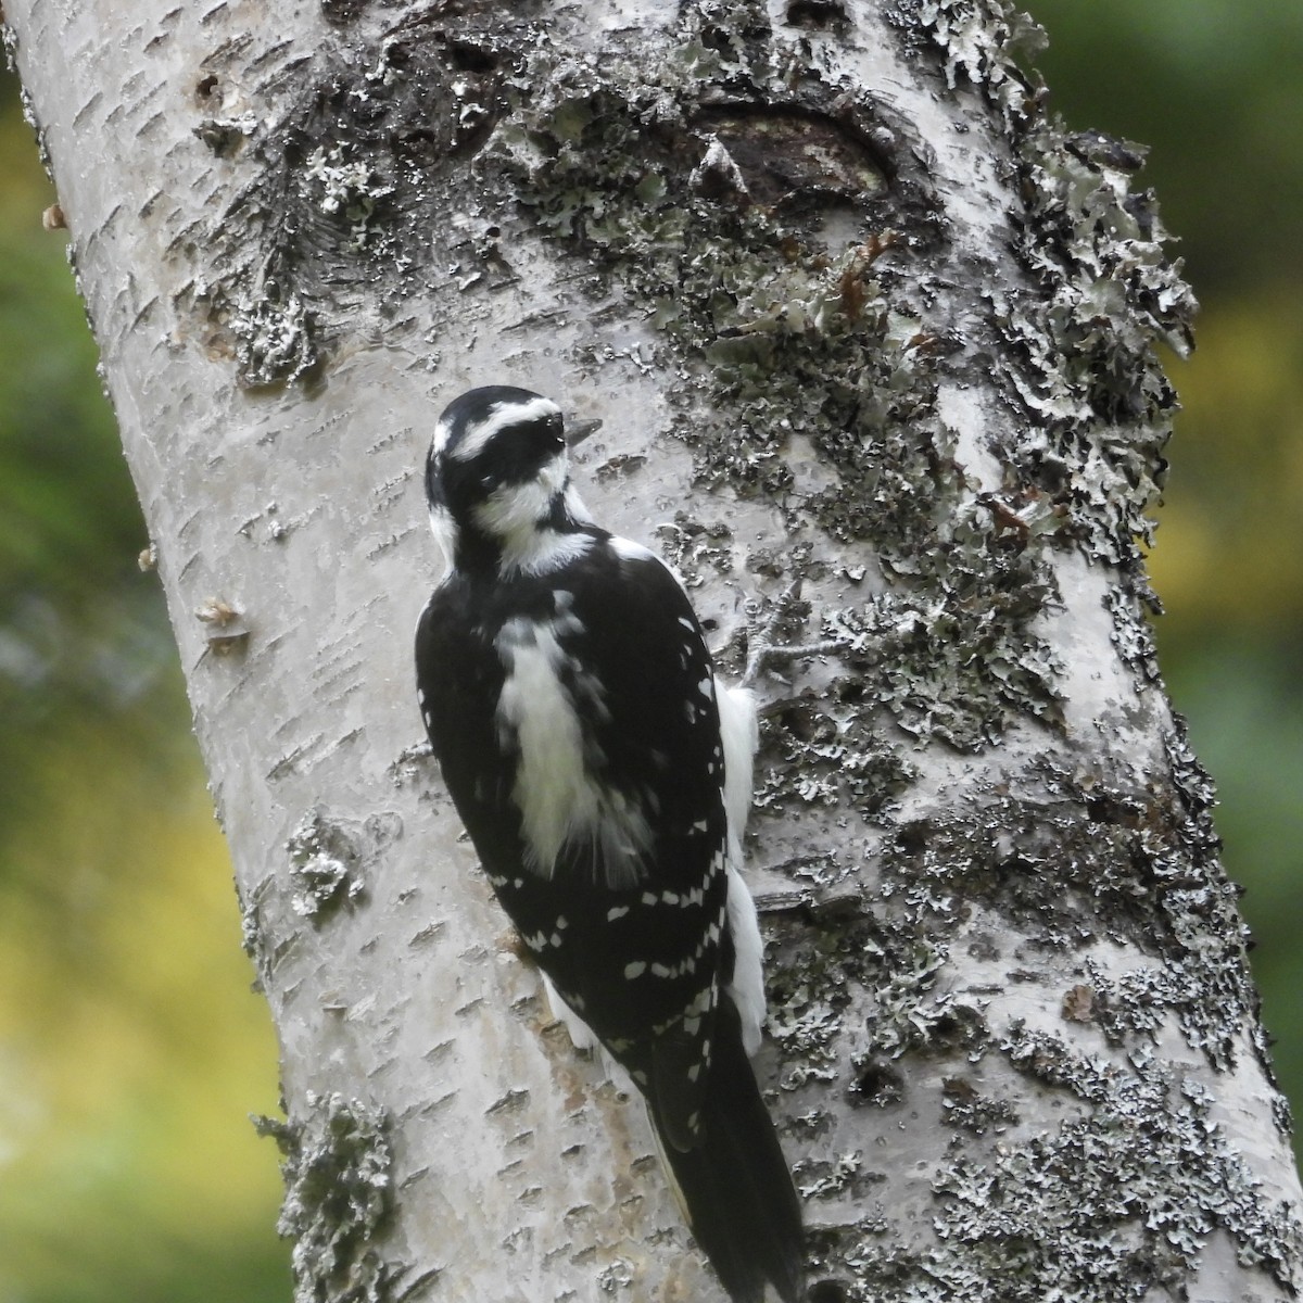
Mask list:
[[[1196,292],[1298,285],[1303,248],[1298,0],[1024,0],[1037,66],[1076,128],[1153,150],[1141,179],[1183,238]]]

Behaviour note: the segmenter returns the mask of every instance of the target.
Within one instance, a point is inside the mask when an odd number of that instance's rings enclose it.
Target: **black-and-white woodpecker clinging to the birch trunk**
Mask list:
[[[715,680],[665,563],[593,523],[555,403],[463,394],[425,487],[451,567],[417,625],[417,698],[489,882],[572,1038],[644,1095],[735,1303],[767,1286],[797,1303],[800,1205],[749,1062],[765,1012],[739,873],[749,694]]]

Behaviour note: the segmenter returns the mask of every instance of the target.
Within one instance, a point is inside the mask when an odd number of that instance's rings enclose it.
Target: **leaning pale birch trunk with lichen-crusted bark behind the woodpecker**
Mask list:
[[[300,1300],[718,1299],[426,752],[433,417],[777,628],[810,1298],[1276,1300],[1299,1186],[1140,541],[1192,300],[1003,0],[5,0],[279,1028]],[[794,581],[800,589],[794,589]],[[268,1158],[270,1161],[270,1158]]]

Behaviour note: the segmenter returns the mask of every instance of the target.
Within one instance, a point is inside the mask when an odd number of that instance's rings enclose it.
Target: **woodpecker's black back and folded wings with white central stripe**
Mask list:
[[[687,595],[605,536],[545,576],[478,593],[453,577],[422,614],[417,679],[499,899],[575,1012],[662,1097],[671,1143],[691,1144],[728,971],[719,715]]]

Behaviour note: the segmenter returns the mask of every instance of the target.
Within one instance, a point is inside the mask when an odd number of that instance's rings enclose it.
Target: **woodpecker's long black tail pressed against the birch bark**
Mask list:
[[[732,1001],[721,993],[700,1143],[676,1149],[648,1100],[661,1157],[684,1217],[734,1303],[764,1303],[767,1281],[799,1303],[804,1280],[800,1201],[774,1123],[743,1049]]]

